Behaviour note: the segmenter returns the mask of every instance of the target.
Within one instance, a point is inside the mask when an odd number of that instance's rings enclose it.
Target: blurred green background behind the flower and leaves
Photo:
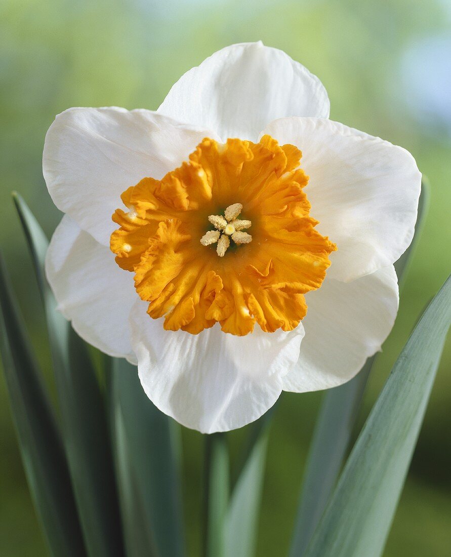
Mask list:
[[[183,72],[234,42],[262,40],[318,75],[331,118],[413,153],[430,211],[398,319],[365,395],[360,425],[415,320],[449,272],[451,4],[447,0],[2,0],[0,245],[51,383],[42,309],[10,192],[51,234],[60,214],[41,172],[44,136],[70,106],[155,109]],[[386,557],[451,551],[451,345],[448,342]],[[321,393],[284,394],[272,427],[259,556],[286,553]],[[244,428],[246,429],[246,428]],[[246,431],[230,435],[232,455]],[[0,554],[46,555],[0,374]],[[187,539],[199,554],[203,436],[184,431]],[[370,557],[364,556],[362,557]]]

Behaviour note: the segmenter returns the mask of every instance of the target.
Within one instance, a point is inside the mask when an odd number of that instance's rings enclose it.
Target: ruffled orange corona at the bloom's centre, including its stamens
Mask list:
[[[268,135],[207,138],[179,168],[122,194],[111,250],[150,317],[192,334],[216,323],[234,335],[300,323],[304,295],[321,286],[336,250],[315,229],[300,159]]]

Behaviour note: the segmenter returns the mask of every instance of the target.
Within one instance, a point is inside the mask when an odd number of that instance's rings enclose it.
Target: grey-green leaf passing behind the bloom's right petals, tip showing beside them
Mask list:
[[[396,262],[402,285],[424,224],[429,205],[429,184],[423,178],[415,235],[408,250]],[[367,379],[375,356],[349,382],[323,395],[307,458],[306,472],[298,504],[291,557],[302,555],[329,500],[349,446]]]

